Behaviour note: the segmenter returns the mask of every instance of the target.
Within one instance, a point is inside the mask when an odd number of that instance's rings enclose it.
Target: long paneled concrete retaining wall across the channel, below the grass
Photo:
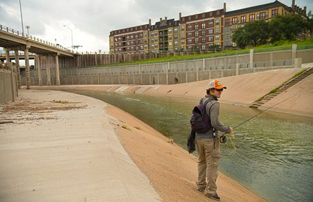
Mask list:
[[[159,69],[153,71],[135,71],[135,73],[134,71],[124,71],[115,72],[113,74],[62,74],[60,76],[60,82],[61,85],[172,85],[273,69],[299,68],[300,60],[301,59],[287,60],[287,62],[262,62],[253,63],[253,65],[250,65],[250,63],[241,65],[220,65],[206,68]],[[38,77],[31,77],[31,85],[38,85],[38,81]],[[26,77],[22,77],[22,85],[26,85]],[[42,85],[47,85],[47,77],[42,78]],[[56,76],[51,77],[51,85],[56,85]]]

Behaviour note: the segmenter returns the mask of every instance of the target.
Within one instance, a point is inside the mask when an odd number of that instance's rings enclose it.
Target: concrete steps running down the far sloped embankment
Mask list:
[[[304,78],[307,78],[307,76],[310,76],[311,74],[313,74],[313,67],[311,67],[310,69],[307,69],[307,71],[303,72],[303,74],[296,76],[295,78],[291,79],[287,83],[284,83],[284,85],[282,85],[282,87],[280,87],[278,92],[275,92],[273,94],[268,94],[268,95],[264,96],[262,101],[257,101],[255,103],[252,103],[250,108],[259,108],[260,106],[264,105],[264,103],[267,103],[271,99],[275,98],[275,96],[278,96],[282,92],[285,92],[286,90],[289,89],[289,87],[296,85],[296,83],[298,83],[299,81],[302,81]]]

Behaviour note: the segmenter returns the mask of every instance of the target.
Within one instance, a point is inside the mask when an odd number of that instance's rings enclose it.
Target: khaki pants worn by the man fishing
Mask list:
[[[218,178],[218,165],[220,164],[220,142],[218,138],[197,140],[198,147],[198,181],[199,190],[205,189],[205,196],[216,194],[216,179]]]

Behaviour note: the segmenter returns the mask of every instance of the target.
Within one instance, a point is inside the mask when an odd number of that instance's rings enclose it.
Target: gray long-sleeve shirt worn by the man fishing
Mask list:
[[[204,97],[202,103],[205,103],[209,98]],[[198,102],[198,105],[200,101]],[[205,106],[205,110],[207,111],[207,115],[211,120],[211,128],[209,131],[205,133],[196,133],[197,140],[205,140],[205,139],[212,139],[213,138],[213,128],[216,129],[216,135],[218,135],[218,131],[222,133],[230,133],[230,127],[225,126],[220,123],[218,116],[220,115],[220,103],[216,100],[209,101],[207,106]]]

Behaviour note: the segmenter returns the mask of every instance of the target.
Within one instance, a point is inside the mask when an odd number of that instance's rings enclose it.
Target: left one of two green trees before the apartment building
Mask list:
[[[232,41],[241,48],[245,48],[248,44],[256,47],[258,44],[265,44],[268,40],[268,22],[264,19],[248,22],[245,26],[239,27]]]

